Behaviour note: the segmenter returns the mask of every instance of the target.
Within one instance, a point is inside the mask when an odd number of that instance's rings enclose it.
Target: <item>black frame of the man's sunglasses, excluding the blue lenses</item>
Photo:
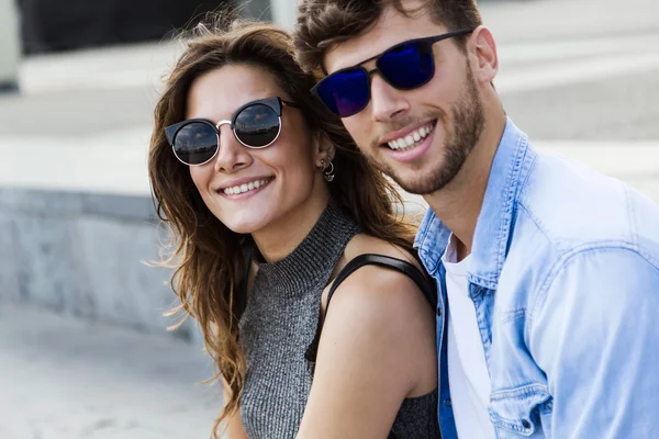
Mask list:
[[[339,75],[339,74],[343,74],[343,72],[346,72],[346,71],[355,71],[355,70],[361,70],[361,71],[364,71],[364,74],[365,74],[365,76],[366,76],[367,83],[368,83],[368,100],[366,101],[366,103],[364,104],[364,106],[359,108],[359,110],[356,110],[356,111],[355,111],[355,112],[353,112],[353,113],[349,113],[349,114],[347,114],[347,115],[340,115],[340,114],[337,114],[337,115],[338,115],[339,117],[342,117],[342,119],[343,119],[343,117],[349,117],[349,116],[353,116],[353,115],[355,115],[355,114],[359,113],[361,110],[364,110],[364,109],[365,109],[365,108],[368,105],[368,103],[370,102],[370,100],[371,100],[371,90],[370,90],[370,89],[371,89],[371,77],[372,77],[375,74],[380,74],[380,77],[381,77],[381,78],[382,78],[382,79],[383,79],[383,80],[384,80],[384,81],[386,81],[388,85],[390,85],[391,87],[393,87],[394,89],[398,89],[398,90],[414,90],[414,89],[417,89],[417,88],[420,88],[420,87],[423,87],[423,86],[425,86],[426,83],[428,83],[428,82],[429,82],[429,81],[431,81],[431,80],[432,80],[432,79],[435,77],[435,59],[434,59],[434,57],[433,57],[433,64],[432,64],[432,66],[433,66],[433,71],[431,72],[431,75],[428,75],[428,79],[426,79],[426,80],[425,80],[425,81],[423,81],[422,83],[415,85],[414,87],[409,87],[409,88],[399,87],[399,86],[396,86],[396,85],[392,83],[392,82],[389,80],[389,78],[387,78],[387,75],[383,75],[383,74],[382,74],[382,71],[380,70],[380,68],[378,67],[378,60],[379,60],[379,59],[380,59],[382,56],[387,55],[387,54],[388,54],[388,53],[390,53],[390,52],[396,50],[399,47],[401,47],[401,46],[403,46],[403,45],[405,45],[405,44],[410,44],[410,43],[418,43],[420,45],[424,46],[424,48],[426,48],[428,52],[431,52],[431,49],[432,49],[432,46],[433,46],[433,44],[435,44],[435,43],[438,43],[438,42],[440,42],[440,41],[443,41],[443,40],[453,38],[453,37],[456,37],[456,36],[468,35],[468,34],[470,34],[470,33],[472,33],[472,32],[473,32],[473,29],[460,29],[460,30],[458,30],[458,31],[448,32],[448,33],[445,33],[445,34],[442,34],[442,35],[427,36],[427,37],[424,37],[424,38],[414,38],[414,40],[407,40],[407,41],[404,41],[404,42],[398,43],[398,44],[395,44],[395,45],[393,45],[393,46],[389,47],[388,49],[383,50],[383,52],[382,52],[382,53],[380,53],[379,55],[371,56],[370,58],[368,58],[368,59],[365,59],[365,60],[362,60],[361,63],[359,63],[359,64],[357,64],[357,65],[355,65],[355,66],[351,66],[351,67],[346,67],[346,68],[343,68],[343,69],[340,69],[340,70],[336,70],[335,72],[333,72],[333,74],[331,74],[331,75],[327,75],[325,78],[323,78],[321,81],[319,81],[319,82],[317,82],[315,86],[313,86],[313,87],[311,88],[311,93],[312,93],[312,94],[313,94],[315,98],[317,98],[317,99],[319,99],[319,100],[320,100],[320,101],[323,103],[323,105],[325,105],[325,106],[327,108],[327,110],[330,110],[332,113],[334,113],[334,112],[333,112],[333,111],[332,111],[332,110],[331,110],[331,109],[330,109],[330,108],[328,108],[328,106],[325,104],[325,101],[323,101],[323,98],[321,98],[321,95],[320,95],[320,93],[319,93],[319,87],[321,87],[321,85],[322,85],[324,81],[326,81],[326,80],[327,80],[327,78],[331,78],[331,77],[333,77],[333,76],[335,76],[335,75]],[[362,66],[362,64],[366,64],[366,63],[372,61],[373,59],[376,59],[376,68],[373,68],[373,69],[371,69],[371,70],[367,70],[367,69],[366,69],[366,67],[364,67],[364,66]],[[323,68],[323,70],[324,70],[324,68]],[[334,114],[336,114],[336,113],[334,113]]]

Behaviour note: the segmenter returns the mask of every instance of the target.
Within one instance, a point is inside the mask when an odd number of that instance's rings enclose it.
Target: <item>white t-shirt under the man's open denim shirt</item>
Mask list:
[[[476,308],[469,297],[467,272],[470,257],[457,261],[455,237],[443,257],[446,267],[448,295],[448,382],[458,437],[463,439],[494,438],[490,421],[490,373],[476,318]]]

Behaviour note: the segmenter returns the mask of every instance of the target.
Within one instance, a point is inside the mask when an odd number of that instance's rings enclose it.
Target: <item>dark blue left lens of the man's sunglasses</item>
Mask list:
[[[316,92],[331,112],[351,116],[364,110],[370,99],[368,75],[358,68],[337,71],[320,82]]]

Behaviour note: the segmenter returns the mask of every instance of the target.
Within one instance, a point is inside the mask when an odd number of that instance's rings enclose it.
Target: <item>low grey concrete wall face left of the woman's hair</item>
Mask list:
[[[158,259],[154,216],[147,196],[0,189],[0,303],[163,331],[176,297],[142,262]]]

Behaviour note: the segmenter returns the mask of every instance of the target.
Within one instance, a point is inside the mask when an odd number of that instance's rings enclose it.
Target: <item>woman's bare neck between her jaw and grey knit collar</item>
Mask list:
[[[293,211],[252,234],[260,255],[268,263],[289,256],[312,230],[330,202],[330,192],[312,193]]]

